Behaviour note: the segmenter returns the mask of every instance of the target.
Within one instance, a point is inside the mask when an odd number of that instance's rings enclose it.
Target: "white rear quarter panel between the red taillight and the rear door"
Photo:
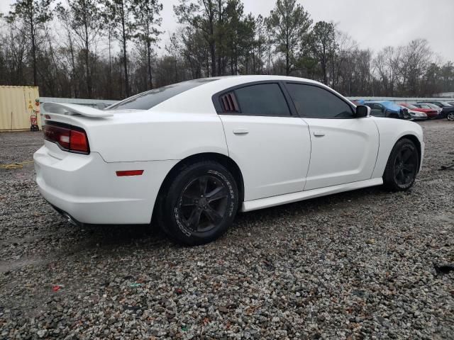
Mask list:
[[[143,111],[117,113],[102,122],[87,119],[90,149],[106,162],[179,160],[201,152],[228,155],[216,113]]]

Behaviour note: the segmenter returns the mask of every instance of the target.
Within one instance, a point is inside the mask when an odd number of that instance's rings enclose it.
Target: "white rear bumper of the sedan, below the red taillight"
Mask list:
[[[177,163],[106,163],[96,152],[62,153],[54,147],[46,143],[33,155],[39,191],[57,210],[83,224],[150,223],[161,183]],[[138,169],[144,170],[142,176],[116,176],[116,171]]]

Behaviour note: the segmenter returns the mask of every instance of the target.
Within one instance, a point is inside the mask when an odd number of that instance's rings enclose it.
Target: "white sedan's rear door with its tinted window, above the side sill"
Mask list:
[[[292,114],[288,100],[279,82],[248,84],[214,96],[228,153],[243,174],[245,200],[304,189],[309,128]]]

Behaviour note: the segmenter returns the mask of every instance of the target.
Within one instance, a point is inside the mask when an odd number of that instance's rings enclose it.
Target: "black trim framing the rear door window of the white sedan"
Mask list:
[[[289,115],[255,115],[252,113],[243,113],[241,111],[241,104],[238,101],[238,96],[236,96],[235,91],[238,89],[243,89],[245,87],[254,86],[254,85],[263,85],[263,84],[277,84],[279,89],[284,96],[285,102],[287,103],[287,108],[289,109]],[[238,103],[238,112],[224,112],[221,103],[221,97],[225,94],[233,93],[236,97],[236,102]],[[243,115],[243,116],[256,116],[256,117],[288,117],[288,118],[300,118],[299,114],[297,113],[296,108],[294,107],[292,98],[290,98],[289,94],[287,93],[287,89],[285,89],[284,81],[282,80],[261,80],[261,81],[250,81],[248,83],[238,84],[236,86],[231,86],[228,89],[224,89],[222,91],[217,92],[213,96],[211,96],[211,101],[213,101],[214,108],[216,109],[216,113],[218,115]],[[292,104],[291,104],[292,103]]]

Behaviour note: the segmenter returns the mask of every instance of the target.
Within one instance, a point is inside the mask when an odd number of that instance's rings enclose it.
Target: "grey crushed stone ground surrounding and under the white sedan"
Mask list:
[[[413,188],[238,215],[205,246],[72,227],[33,164],[0,169],[0,339],[454,339],[454,123],[420,123]],[[0,164],[41,132],[0,134]],[[437,270],[436,270],[437,269]]]

